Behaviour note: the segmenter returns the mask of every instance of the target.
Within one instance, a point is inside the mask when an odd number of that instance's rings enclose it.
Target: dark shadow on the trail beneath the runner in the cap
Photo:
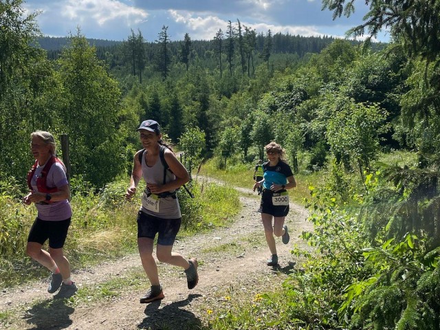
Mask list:
[[[146,318],[137,325],[138,329],[199,329],[201,321],[194,314],[181,309],[201,294],[190,294],[185,300],[176,301],[159,308],[160,300],[153,301],[145,308]]]

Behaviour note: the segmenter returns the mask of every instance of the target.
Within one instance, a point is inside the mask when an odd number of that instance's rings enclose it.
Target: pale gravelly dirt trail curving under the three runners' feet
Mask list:
[[[291,203],[286,223],[291,241],[287,245],[277,239],[279,267],[268,267],[265,260],[270,255],[264,242],[261,216],[256,210],[259,199],[250,189],[237,188],[241,192],[243,209],[228,228],[219,228],[207,234],[197,234],[175,244],[174,250],[184,256],[199,260],[199,284],[188,290],[184,272],[170,265],[159,263],[159,276],[165,298],[161,302],[141,305],[139,298],[148,289],[118,288],[119,296],[100,303],[79,302],[71,307],[66,301],[52,302],[47,294],[47,283],[35,283],[21,289],[9,289],[0,293],[0,313],[21,311],[12,324],[0,323],[0,329],[197,329],[207,318],[207,310],[228,303],[225,296],[246,296],[270,287],[281,285],[294,268],[290,253],[303,230],[311,230],[307,210]],[[233,245],[234,252],[212,252],[219,245]],[[211,249],[210,249],[211,248]],[[72,278],[79,288],[96,286],[115,277],[127,277],[133,270],[140,270],[137,254],[118,261],[104,263],[89,270],[73,272]]]

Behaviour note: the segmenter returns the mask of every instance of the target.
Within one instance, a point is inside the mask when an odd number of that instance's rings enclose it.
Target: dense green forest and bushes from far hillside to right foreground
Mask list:
[[[238,20],[208,41],[170,41],[165,25],[154,42],[80,28],[53,39],[22,3],[0,3],[0,245],[13,241],[6,219],[19,217],[10,205],[37,129],[68,135],[73,195],[127,182],[142,120],[161,124],[190,171],[228,170],[225,151],[252,168],[274,140],[296,175],[322,175],[303,234],[320,258],[293,251],[309,259],[285,283],[292,328],[279,329],[440,329],[439,0],[366,0],[349,36],[386,29],[387,44],[257,34]],[[322,5],[335,19],[354,10]]]

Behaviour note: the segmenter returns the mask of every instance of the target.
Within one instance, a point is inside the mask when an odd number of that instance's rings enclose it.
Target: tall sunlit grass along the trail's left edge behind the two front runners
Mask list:
[[[136,217],[143,186],[138,186],[132,201],[125,201],[127,182],[121,178],[96,192],[87,183],[72,180],[72,224],[64,247],[72,270],[137,252]],[[239,195],[232,187],[192,184],[190,188],[194,199],[183,189],[178,192],[182,212],[179,237],[227,225],[239,212]],[[49,275],[25,254],[36,208],[23,205],[19,196],[8,195],[12,190],[0,190],[0,288]],[[43,248],[47,249],[47,243]]]

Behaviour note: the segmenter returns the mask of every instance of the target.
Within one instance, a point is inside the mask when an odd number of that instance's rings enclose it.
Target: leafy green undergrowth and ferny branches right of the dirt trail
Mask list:
[[[314,230],[301,236],[314,250],[293,248],[305,261],[283,287],[213,306],[203,329],[440,329],[439,233],[430,232],[440,175],[409,168],[413,159],[386,155],[361,184],[331,164],[309,187]],[[380,199],[384,191],[393,198]]]

